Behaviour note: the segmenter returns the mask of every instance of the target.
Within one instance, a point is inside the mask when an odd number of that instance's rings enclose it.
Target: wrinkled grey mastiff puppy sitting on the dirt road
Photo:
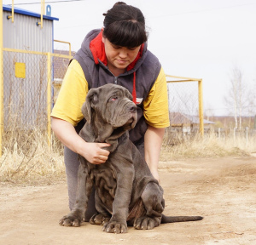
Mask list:
[[[201,216],[165,216],[163,190],[147,163],[129,140],[128,131],[137,122],[137,105],[130,92],[119,85],[92,88],[82,107],[86,119],[80,136],[87,142],[107,142],[107,162],[91,164],[79,156],[76,203],[60,225],[79,226],[84,219],[92,186],[96,188],[96,210],[90,223],[103,225],[102,231],[127,232],[153,229],[160,223],[201,220]]]

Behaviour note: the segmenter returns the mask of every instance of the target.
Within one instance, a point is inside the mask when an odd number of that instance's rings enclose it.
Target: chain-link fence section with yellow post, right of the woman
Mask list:
[[[185,138],[204,134],[201,79],[166,75],[170,127],[165,143],[176,145]]]

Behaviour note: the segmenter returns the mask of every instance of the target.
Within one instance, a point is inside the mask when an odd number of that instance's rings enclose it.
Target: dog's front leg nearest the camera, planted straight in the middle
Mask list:
[[[132,182],[134,170],[123,168],[122,172],[117,174],[117,189],[113,200],[113,214],[108,223],[103,225],[102,231],[109,233],[126,233],[127,216],[129,204],[131,202]]]

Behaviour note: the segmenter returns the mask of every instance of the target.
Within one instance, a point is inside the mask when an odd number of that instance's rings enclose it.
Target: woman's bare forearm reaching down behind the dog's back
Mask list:
[[[157,180],[160,180],[158,174],[158,162],[164,134],[165,128],[154,128],[152,126],[148,126],[148,130],[146,131],[144,138],[145,161],[148,163],[151,173]]]

